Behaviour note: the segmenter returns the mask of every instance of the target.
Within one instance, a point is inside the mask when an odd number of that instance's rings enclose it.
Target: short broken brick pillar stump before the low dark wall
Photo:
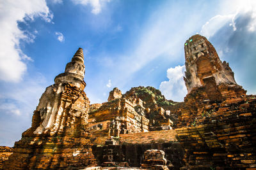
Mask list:
[[[147,150],[141,167],[144,169],[168,169],[163,150]]]

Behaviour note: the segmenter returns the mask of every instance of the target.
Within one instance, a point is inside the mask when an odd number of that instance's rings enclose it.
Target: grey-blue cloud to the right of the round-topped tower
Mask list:
[[[250,24],[254,18],[252,13],[238,15],[236,31],[228,25],[222,27],[210,39],[221,60],[227,60],[235,73],[236,82],[247,90],[247,94],[256,93],[256,75],[253,74],[256,64],[255,39],[256,31],[251,31]],[[246,69],[243,69],[246,68]]]

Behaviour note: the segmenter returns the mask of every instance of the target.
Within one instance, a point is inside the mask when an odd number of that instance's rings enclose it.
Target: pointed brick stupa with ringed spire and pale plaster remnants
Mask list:
[[[65,73],[46,88],[4,169],[82,169],[95,164],[88,136],[90,101],[84,93],[84,57],[79,48]]]

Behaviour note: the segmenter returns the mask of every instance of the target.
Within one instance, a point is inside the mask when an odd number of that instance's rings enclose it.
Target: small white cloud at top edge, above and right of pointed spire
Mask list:
[[[75,4],[83,4],[92,6],[92,13],[97,15],[102,10],[102,5],[109,0],[72,0]]]

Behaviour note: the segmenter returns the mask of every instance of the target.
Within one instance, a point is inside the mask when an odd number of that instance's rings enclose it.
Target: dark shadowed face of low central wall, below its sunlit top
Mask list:
[[[93,146],[93,154],[97,163],[127,162],[131,167],[140,167],[143,163],[144,152],[150,149],[163,150],[167,166],[179,169],[183,166],[184,152],[180,143],[123,143],[121,145]]]

